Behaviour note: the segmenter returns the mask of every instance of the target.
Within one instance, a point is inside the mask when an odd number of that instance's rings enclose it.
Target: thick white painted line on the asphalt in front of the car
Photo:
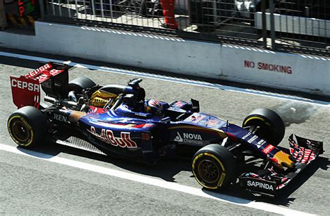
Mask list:
[[[186,185],[180,185],[178,183],[167,182],[164,180],[150,178],[147,176],[141,176],[139,174],[131,174],[131,173],[119,171],[116,169],[110,169],[107,167],[91,165],[88,163],[83,163],[83,162],[70,160],[70,159],[66,159],[66,158],[61,158],[58,156],[51,156],[51,155],[36,152],[36,151],[30,151],[30,150],[26,150],[26,149],[17,149],[16,147],[12,147],[12,146],[9,146],[6,144],[0,144],[0,150],[8,151],[11,153],[18,153],[20,155],[30,156],[33,158],[38,158],[40,160],[47,160],[52,163],[68,165],[70,167],[76,167],[79,169],[85,169],[90,172],[97,172],[97,173],[105,174],[108,176],[114,176],[116,178],[124,178],[129,181],[136,181],[139,183],[154,185],[154,186],[157,186],[160,188],[175,190],[178,192],[184,192],[186,194],[192,194],[192,195],[195,195],[198,197],[214,199],[217,201],[223,201],[226,203],[235,204],[237,206],[244,206],[244,207],[248,207],[248,208],[264,210],[269,213],[277,213],[277,214],[281,214],[281,215],[299,215],[299,216],[311,215],[309,213],[304,213],[304,212],[301,212],[298,210],[292,210],[292,209],[285,208],[285,207],[275,206],[275,205],[272,205],[269,203],[262,203],[262,202],[251,201],[248,199],[241,199],[238,197],[232,197],[232,196],[228,196],[225,194],[219,194],[216,192],[210,192],[210,191],[203,192],[203,190],[201,190],[201,189],[189,187]]]

